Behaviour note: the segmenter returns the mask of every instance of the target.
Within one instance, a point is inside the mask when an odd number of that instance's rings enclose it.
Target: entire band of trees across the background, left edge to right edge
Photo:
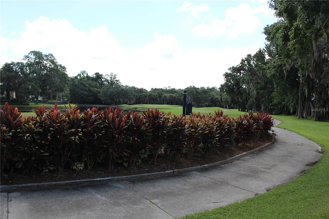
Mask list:
[[[266,45],[247,54],[224,74],[219,87],[189,86],[195,107],[218,106],[241,111],[329,118],[329,2],[269,1],[278,21],[264,27]],[[218,72],[219,73],[219,72]],[[214,79],[215,80],[215,79]],[[1,94],[16,101],[56,99],[86,104],[178,104],[183,89],[121,84],[116,75],[81,71],[68,77],[52,54],[31,51],[23,62],[1,68]]]

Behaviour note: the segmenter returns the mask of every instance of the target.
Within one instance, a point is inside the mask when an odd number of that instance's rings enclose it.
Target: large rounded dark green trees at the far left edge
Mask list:
[[[66,68],[52,54],[30,51],[23,61],[6,63],[2,70],[3,86],[14,91],[20,102],[30,98],[38,102],[39,96],[59,99],[68,95]]]

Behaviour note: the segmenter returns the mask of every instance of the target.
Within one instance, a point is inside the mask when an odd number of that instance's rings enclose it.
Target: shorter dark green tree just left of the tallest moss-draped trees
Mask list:
[[[253,56],[247,56],[237,66],[229,68],[224,74],[225,83],[221,85],[232,108],[240,111],[270,112],[273,81],[268,77],[265,50],[259,49]]]

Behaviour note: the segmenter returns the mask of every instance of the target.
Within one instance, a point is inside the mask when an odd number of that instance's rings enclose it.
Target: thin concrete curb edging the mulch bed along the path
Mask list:
[[[176,170],[168,170],[163,172],[155,172],[155,173],[144,173],[138,175],[130,175],[130,176],[112,176],[112,177],[104,177],[104,178],[94,178],[94,179],[80,179],[80,180],[68,180],[68,181],[58,181],[58,182],[44,182],[44,183],[35,183],[35,184],[22,184],[22,185],[2,185],[0,186],[0,192],[8,193],[8,192],[20,192],[20,191],[29,191],[29,190],[43,190],[43,189],[51,189],[51,188],[62,188],[67,186],[90,186],[90,185],[99,185],[106,182],[116,182],[116,181],[126,181],[126,180],[139,180],[139,179],[148,179],[148,178],[156,178],[162,176],[170,176],[176,175],[180,173],[187,173],[192,171],[200,171],[209,168],[213,168],[220,165],[225,165],[226,163],[233,162],[235,160],[241,159],[245,156],[258,152],[262,149],[265,149],[272,145],[275,140],[264,144],[256,149],[253,149],[248,152],[244,152],[242,154],[236,155],[226,160],[208,163],[207,165],[184,168],[184,169],[176,169]]]

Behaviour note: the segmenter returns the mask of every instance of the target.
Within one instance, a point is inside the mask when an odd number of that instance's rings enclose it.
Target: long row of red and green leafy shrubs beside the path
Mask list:
[[[156,163],[158,155],[172,161],[180,156],[205,158],[230,145],[258,140],[273,126],[266,113],[233,119],[220,110],[189,117],[111,107],[80,113],[70,104],[64,112],[57,105],[34,111],[35,116],[25,117],[8,103],[1,107],[2,173],[92,170],[95,163],[108,169],[134,167],[145,160]]]

